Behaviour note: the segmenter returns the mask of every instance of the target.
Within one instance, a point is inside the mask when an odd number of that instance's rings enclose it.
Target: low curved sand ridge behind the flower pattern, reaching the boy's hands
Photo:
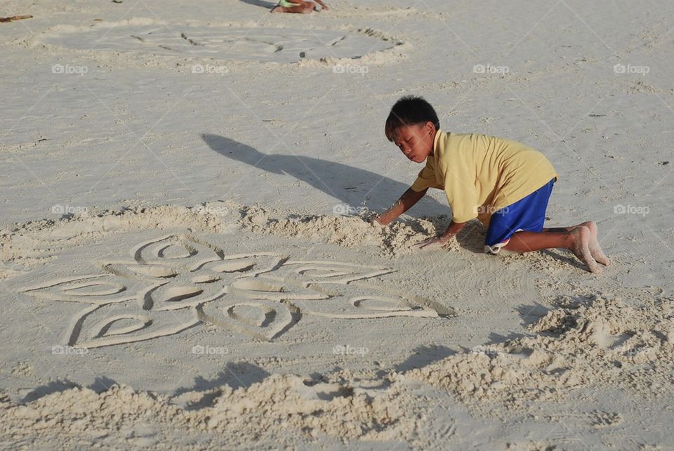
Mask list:
[[[441,218],[442,220],[442,218]],[[237,229],[278,237],[296,237],[343,247],[371,246],[383,256],[407,254],[410,245],[436,233],[429,220],[396,222],[381,228],[363,216],[325,216],[272,211],[258,205],[210,203],[196,207],[161,205],[86,210],[77,216],[15,223],[0,229],[0,258],[6,263],[0,277],[20,274],[11,265],[34,266],[52,260],[61,249],[100,237],[133,230],[185,228],[207,233]],[[458,249],[452,240],[448,249]]]

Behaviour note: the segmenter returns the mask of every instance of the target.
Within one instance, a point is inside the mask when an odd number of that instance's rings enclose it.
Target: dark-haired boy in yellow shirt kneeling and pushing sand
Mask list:
[[[441,247],[478,218],[487,225],[484,251],[497,254],[569,249],[593,273],[611,262],[597,242],[597,225],[586,221],[564,228],[543,228],[557,173],[548,159],[513,140],[477,134],[445,133],[433,107],[423,98],[398,100],[386,119],[385,133],[404,155],[426,162],[411,188],[374,221],[387,225],[421,199],[428,188],[444,190],[454,215],[447,230],[416,244]]]

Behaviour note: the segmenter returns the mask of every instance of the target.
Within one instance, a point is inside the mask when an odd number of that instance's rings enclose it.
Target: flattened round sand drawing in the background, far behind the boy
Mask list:
[[[119,51],[219,60],[295,63],[305,58],[361,58],[395,45],[367,32],[296,28],[159,25],[120,22],[55,27],[46,44],[84,51]]]

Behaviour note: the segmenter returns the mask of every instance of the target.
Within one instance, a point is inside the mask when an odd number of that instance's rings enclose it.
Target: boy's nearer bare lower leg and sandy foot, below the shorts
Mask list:
[[[510,242],[503,247],[512,252],[530,252],[541,249],[569,249],[576,257],[585,263],[593,273],[601,273],[597,262],[590,253],[592,233],[584,225],[578,225],[572,230],[546,230],[541,233],[517,232],[510,237]]]

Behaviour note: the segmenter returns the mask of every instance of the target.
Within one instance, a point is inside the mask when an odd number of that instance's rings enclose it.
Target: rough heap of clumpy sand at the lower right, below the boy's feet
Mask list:
[[[411,375],[464,403],[506,409],[597,384],[657,397],[674,381],[674,299],[641,297],[637,307],[612,296],[562,299],[529,327],[535,336],[452,355]]]

